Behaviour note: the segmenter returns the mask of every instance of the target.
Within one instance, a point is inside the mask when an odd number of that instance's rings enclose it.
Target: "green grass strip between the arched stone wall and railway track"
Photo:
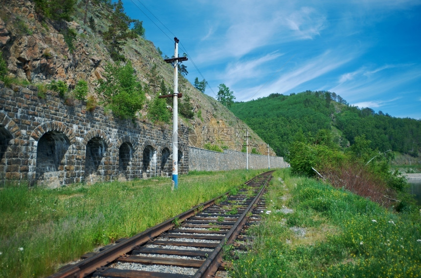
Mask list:
[[[0,188],[0,277],[45,277],[95,247],[130,237],[243,184],[258,171],[190,172],[171,180]]]

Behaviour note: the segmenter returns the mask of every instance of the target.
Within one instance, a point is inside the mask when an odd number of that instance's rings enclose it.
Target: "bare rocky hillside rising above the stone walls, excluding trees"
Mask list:
[[[85,80],[90,94],[95,95],[94,87],[103,78],[105,64],[115,63],[102,36],[110,25],[112,9],[109,4],[95,0],[76,1],[73,9],[70,21],[59,21],[37,13],[34,1],[1,1],[0,50],[10,78],[21,84],[61,80],[70,88],[78,80]],[[91,24],[86,19],[91,19]],[[126,61],[131,61],[141,82],[149,82],[148,74],[156,65],[159,75],[171,87],[172,67],[164,62],[152,42],[140,36],[128,39],[122,54]],[[257,134],[215,99],[196,90],[184,78],[179,80],[179,91],[190,97],[193,107],[192,119],[180,118],[181,124],[190,129],[191,146],[203,148],[210,143],[241,150],[248,129],[249,151],[256,148],[267,153],[266,144]],[[151,100],[155,96],[146,97]],[[148,121],[144,117],[146,109],[147,106],[140,113],[143,121]]]

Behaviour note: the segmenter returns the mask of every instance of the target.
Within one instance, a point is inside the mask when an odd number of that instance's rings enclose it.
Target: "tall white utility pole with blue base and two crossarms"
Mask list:
[[[166,63],[174,66],[174,93],[172,95],[159,96],[159,98],[172,97],[172,183],[174,189],[178,189],[178,98],[182,95],[178,93],[178,64],[187,61],[187,57],[178,57],[179,39],[174,38],[174,58],[165,59]]]

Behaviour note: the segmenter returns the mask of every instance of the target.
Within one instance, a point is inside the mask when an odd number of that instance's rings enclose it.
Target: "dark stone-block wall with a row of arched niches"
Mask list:
[[[172,128],[120,121],[102,108],[37,96],[0,82],[0,182],[57,187],[172,174]],[[179,128],[180,174],[188,171],[188,128]],[[179,153],[180,157],[180,153]]]

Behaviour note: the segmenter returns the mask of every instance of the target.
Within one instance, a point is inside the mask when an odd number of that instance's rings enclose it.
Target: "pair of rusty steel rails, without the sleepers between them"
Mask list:
[[[216,271],[218,270],[218,268],[221,266],[221,263],[222,263],[223,246],[225,244],[231,244],[234,242],[235,238],[240,233],[244,223],[246,222],[247,213],[250,210],[252,210],[253,206],[255,206],[255,204],[257,203],[257,201],[263,194],[265,190],[265,186],[270,180],[272,173],[273,171],[262,173],[245,183],[245,185],[250,185],[251,183],[256,181],[257,178],[261,178],[262,176],[265,177],[265,181],[260,191],[257,193],[256,197],[248,205],[247,209],[244,210],[244,212],[241,214],[238,220],[236,220],[235,224],[229,230],[229,232],[222,238],[222,240],[220,240],[220,243],[217,244],[214,251],[207,257],[205,262],[199,263],[195,260],[184,262],[186,266],[188,265],[188,266],[192,266],[196,268],[198,267],[198,271],[193,276],[194,278],[210,277],[211,275],[214,275],[214,273],[216,273]],[[103,276],[103,277],[156,277],[156,278],[157,277],[168,277],[168,278],[191,277],[191,276],[175,275],[175,274],[168,274],[168,273],[162,273],[161,276],[159,273],[154,273],[154,275],[151,275],[151,276],[148,276],[147,273],[142,273],[142,275],[139,276],[140,273],[136,274],[135,271],[132,271],[134,272],[132,274],[130,274],[129,272],[123,272],[121,274],[118,274],[118,273],[107,274],[108,268],[106,266],[109,265],[111,262],[116,261],[117,259],[127,258],[128,257],[127,254],[132,252],[137,246],[156,240],[155,238],[158,237],[159,235],[163,235],[165,234],[165,232],[176,228],[175,226],[176,222],[186,221],[188,218],[193,217],[198,212],[201,212],[211,207],[215,203],[216,200],[219,200],[228,195],[229,195],[229,192],[226,192],[216,198],[213,198],[210,201],[207,201],[195,206],[194,208],[188,210],[185,213],[179,214],[155,227],[149,228],[138,235],[132,236],[127,239],[119,240],[118,243],[116,243],[115,245],[107,246],[103,251],[97,254],[94,254],[90,257],[88,256],[75,264],[65,266],[59,272],[57,272],[54,275],[49,276],[48,278],[84,278],[84,277],[91,276],[95,272],[97,273],[99,272],[100,276]],[[177,259],[175,261],[177,261]],[[182,265],[183,262],[179,261],[178,263]],[[103,275],[101,275],[101,273]]]

